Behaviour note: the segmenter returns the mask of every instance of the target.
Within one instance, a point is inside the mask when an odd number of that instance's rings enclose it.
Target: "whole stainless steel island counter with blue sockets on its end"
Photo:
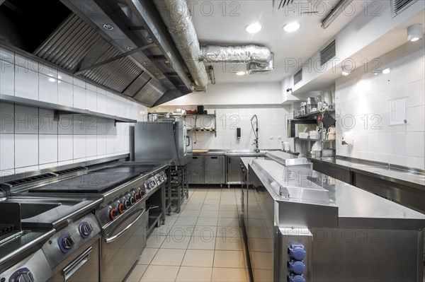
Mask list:
[[[423,281],[424,214],[307,164],[253,160],[248,177],[254,281]]]

